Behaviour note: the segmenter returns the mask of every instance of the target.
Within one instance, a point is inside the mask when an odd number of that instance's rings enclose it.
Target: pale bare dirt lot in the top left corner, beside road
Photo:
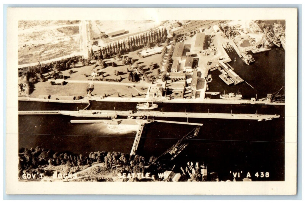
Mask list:
[[[70,21],[20,21],[18,64],[45,61],[80,51],[78,23]]]

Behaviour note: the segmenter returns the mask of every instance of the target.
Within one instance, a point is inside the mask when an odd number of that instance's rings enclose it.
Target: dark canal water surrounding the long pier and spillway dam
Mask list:
[[[53,107],[52,107],[53,105]],[[79,104],[70,104],[74,109]],[[135,103],[92,102],[94,109],[111,110],[113,106],[128,110]],[[120,106],[119,106],[120,105]],[[204,162],[210,172],[217,172],[220,180],[232,180],[231,172],[269,172],[270,177],[258,180],[284,180],[284,112],[285,106],[258,106],[236,104],[169,104],[161,103],[169,111],[203,111],[209,108],[217,111],[233,109],[233,113],[273,112],[282,117],[271,121],[198,119],[188,118],[188,122],[202,123],[198,137],[189,139],[189,145],[178,155],[172,165],[176,172],[185,169],[188,161]],[[184,106],[183,106],[184,105]],[[217,108],[213,108],[216,106]],[[36,108],[35,108],[36,107]],[[123,108],[124,107],[124,108]],[[63,110],[60,103],[19,102],[19,110]],[[93,109],[92,108],[92,109]],[[132,109],[132,108],[131,108]],[[94,151],[119,151],[130,153],[137,125],[71,124],[79,118],[65,115],[19,115],[19,148],[36,147],[53,149],[57,152],[71,151],[88,156]],[[96,118],[81,118],[96,119]],[[184,121],[186,118],[154,118],[160,120]],[[146,157],[160,156],[174,143],[195,128],[193,125],[151,123],[145,127],[138,153]],[[255,172],[254,172],[255,171]],[[246,175],[243,175],[243,178]],[[256,177],[255,177],[256,178]],[[255,180],[253,178],[253,180]],[[242,178],[240,178],[242,179]],[[237,179],[238,180],[238,179]]]

